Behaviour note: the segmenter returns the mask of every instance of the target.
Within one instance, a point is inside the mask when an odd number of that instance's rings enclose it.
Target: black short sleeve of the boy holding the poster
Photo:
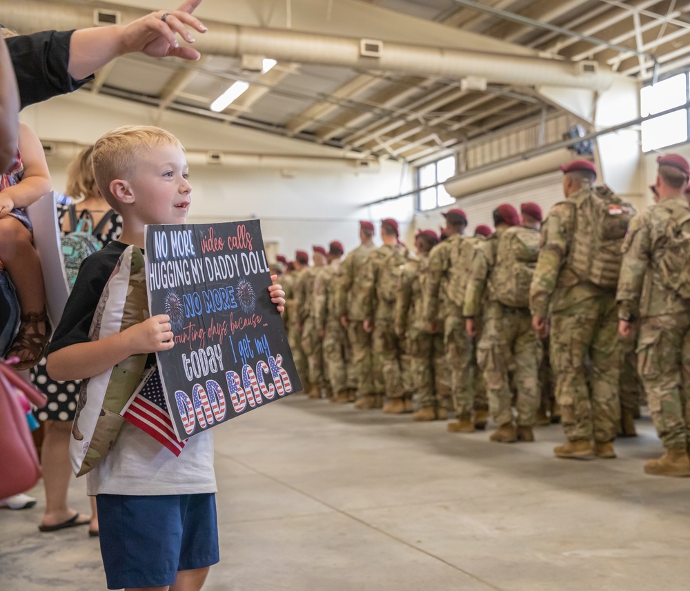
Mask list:
[[[124,251],[123,247],[126,247],[122,243],[111,244],[110,248],[95,252],[81,263],[77,281],[52,335],[48,354],[69,345],[90,341],[88,334],[103,288]]]

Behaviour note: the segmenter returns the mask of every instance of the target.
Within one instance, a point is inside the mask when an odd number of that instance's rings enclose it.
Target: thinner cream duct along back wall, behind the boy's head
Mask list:
[[[72,141],[41,140],[48,158],[72,159],[86,148]],[[186,161],[195,166],[226,166],[230,168],[287,168],[308,170],[348,169],[361,172],[378,172],[375,159],[334,158],[317,156],[293,156],[285,154],[243,154],[218,150],[186,150]]]

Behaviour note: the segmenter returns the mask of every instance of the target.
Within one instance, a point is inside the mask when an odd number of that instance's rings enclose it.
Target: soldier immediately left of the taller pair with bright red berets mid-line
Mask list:
[[[337,292],[340,257],[344,254],[342,243],[328,245],[328,265],[314,284],[314,325],[324,343],[324,370],[331,385],[331,402],[348,401],[347,383],[347,332],[340,323],[335,297]]]

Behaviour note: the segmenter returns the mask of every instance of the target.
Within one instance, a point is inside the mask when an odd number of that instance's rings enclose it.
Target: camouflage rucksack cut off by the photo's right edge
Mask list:
[[[670,208],[666,230],[654,245],[662,285],[682,299],[690,299],[690,208],[684,203]]]

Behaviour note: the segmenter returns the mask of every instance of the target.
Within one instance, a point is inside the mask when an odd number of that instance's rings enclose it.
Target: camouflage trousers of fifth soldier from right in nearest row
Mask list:
[[[408,334],[413,403],[420,408],[453,410],[451,371],[446,362],[443,335],[413,329]]]

